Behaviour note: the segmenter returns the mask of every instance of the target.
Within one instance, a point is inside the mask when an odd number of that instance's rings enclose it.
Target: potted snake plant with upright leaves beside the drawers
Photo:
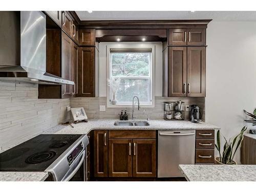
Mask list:
[[[239,146],[242,143],[242,140],[244,138],[244,132],[246,131],[247,127],[243,127],[241,132],[233,139],[232,142],[230,142],[230,139],[227,141],[227,139],[223,136],[225,139],[225,144],[223,146],[223,151],[221,153],[221,143],[220,143],[220,130],[217,132],[217,143],[215,144],[215,147],[217,148],[219,152],[219,157],[216,158],[217,164],[237,164],[236,161],[234,161],[234,156],[236,155],[236,152],[239,148]],[[237,145],[236,145],[236,141]],[[234,147],[236,145],[236,147]]]

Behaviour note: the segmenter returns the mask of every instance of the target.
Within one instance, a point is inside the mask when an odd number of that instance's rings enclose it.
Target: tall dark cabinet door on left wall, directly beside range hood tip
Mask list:
[[[73,41],[64,32],[61,33],[61,77],[63,79],[71,80],[71,49]],[[63,84],[61,86],[61,97],[70,98],[71,86],[70,84]]]

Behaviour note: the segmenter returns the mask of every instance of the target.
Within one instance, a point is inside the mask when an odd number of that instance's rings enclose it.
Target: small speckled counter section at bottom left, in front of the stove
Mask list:
[[[0,172],[0,181],[45,181],[45,172]]]

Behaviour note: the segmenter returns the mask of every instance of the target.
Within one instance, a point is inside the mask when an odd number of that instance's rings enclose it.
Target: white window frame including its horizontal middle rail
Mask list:
[[[118,46],[106,46],[106,65],[107,65],[107,70],[106,70],[106,77],[109,79],[111,77],[111,49],[127,49],[127,50],[136,50],[136,49],[151,49],[151,67],[150,67],[150,77],[145,77],[145,76],[138,76],[138,77],[121,77],[121,78],[127,78],[127,79],[151,79],[151,104],[143,104],[141,103],[141,106],[143,108],[154,108],[155,107],[155,45],[152,44],[141,44],[135,42],[132,46],[129,45],[127,46],[126,43],[118,43]],[[111,104],[110,100],[110,87],[107,86],[106,88],[106,103],[107,103],[107,108],[132,108],[132,98],[131,98],[131,103],[122,103],[122,104]]]

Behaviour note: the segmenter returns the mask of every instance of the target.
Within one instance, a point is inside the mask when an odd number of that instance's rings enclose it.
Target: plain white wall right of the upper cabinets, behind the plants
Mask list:
[[[256,108],[256,22],[210,22],[206,43],[205,120],[230,138]]]

